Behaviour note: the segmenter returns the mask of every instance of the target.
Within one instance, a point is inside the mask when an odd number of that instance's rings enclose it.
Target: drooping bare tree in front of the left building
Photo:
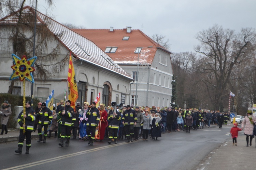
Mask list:
[[[49,4],[49,6],[52,4],[52,0],[46,0],[46,2]],[[8,46],[13,47],[14,54],[18,56],[26,55],[28,58],[30,58],[33,57],[35,11],[32,8],[29,8],[30,13],[24,12],[24,6],[26,3],[32,3],[32,1],[1,1],[0,16],[12,14],[12,17],[15,18],[16,23],[12,24],[12,27],[10,27],[11,30],[7,37],[1,36],[0,39],[7,38],[9,40]],[[38,57],[38,60],[34,64],[34,67],[36,68],[35,75],[38,79],[47,80],[49,77],[51,77],[50,72],[54,72],[56,74],[63,70],[67,64],[68,57],[66,56],[61,59],[58,58],[61,47],[60,43],[58,43],[55,47],[48,49],[49,42],[53,41],[53,34],[49,31],[44,22],[37,24],[36,33],[37,41],[35,43],[35,55]],[[12,93],[13,86],[14,80],[11,82],[8,93]]]

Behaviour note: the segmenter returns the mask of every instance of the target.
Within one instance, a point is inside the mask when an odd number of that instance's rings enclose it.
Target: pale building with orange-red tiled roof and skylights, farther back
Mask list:
[[[173,77],[171,52],[142,31],[132,30],[131,27],[121,30],[112,27],[72,30],[93,41],[114,62],[132,75],[134,82],[130,84],[130,104],[169,106]],[[136,77],[137,70],[139,78]]]

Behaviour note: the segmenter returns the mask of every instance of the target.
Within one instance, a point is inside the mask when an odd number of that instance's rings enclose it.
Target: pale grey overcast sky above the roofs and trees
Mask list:
[[[195,35],[214,24],[240,31],[256,28],[256,0],[53,0],[47,10],[60,23],[86,29],[140,29],[165,35],[171,52],[193,51]],[[33,7],[35,4],[33,5]],[[46,13],[45,0],[38,10]]]

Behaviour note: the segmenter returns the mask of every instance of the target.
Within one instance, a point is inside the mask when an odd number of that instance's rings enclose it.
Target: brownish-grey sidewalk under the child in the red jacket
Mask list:
[[[231,123],[228,122],[230,129]],[[241,126],[238,126],[241,128]],[[230,135],[230,134],[229,134]],[[250,140],[250,138],[249,138]],[[249,141],[250,142],[250,141]],[[237,138],[237,146],[233,146],[233,141],[230,135],[219,148],[213,150],[207,155],[201,163],[195,168],[196,170],[234,170],[234,169],[256,169],[256,148],[255,138],[253,138],[252,146],[246,147],[246,136],[243,130],[239,132]]]

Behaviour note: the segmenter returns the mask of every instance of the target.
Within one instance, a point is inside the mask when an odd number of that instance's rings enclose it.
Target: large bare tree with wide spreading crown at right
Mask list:
[[[229,94],[227,85],[234,66],[255,55],[255,30],[245,28],[236,34],[233,30],[215,25],[199,32],[196,38],[201,44],[195,50],[203,55],[204,63],[199,71],[208,91],[214,90],[214,109],[222,109],[221,101]]]

